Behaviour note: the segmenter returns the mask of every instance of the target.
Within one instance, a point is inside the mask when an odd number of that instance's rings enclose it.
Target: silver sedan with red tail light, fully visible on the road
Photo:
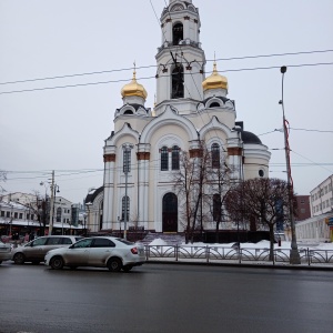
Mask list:
[[[68,248],[51,250],[44,263],[53,270],[63,266],[108,268],[112,272],[129,272],[145,262],[144,246],[114,236],[87,238]]]

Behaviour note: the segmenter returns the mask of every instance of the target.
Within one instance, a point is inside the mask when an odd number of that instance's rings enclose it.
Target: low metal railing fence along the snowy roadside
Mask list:
[[[255,248],[223,248],[192,245],[145,245],[148,261],[163,260],[178,262],[205,263],[265,263],[289,264],[291,249],[274,249],[273,261],[270,261],[270,249]],[[332,264],[333,250],[299,250],[301,263],[307,265]]]

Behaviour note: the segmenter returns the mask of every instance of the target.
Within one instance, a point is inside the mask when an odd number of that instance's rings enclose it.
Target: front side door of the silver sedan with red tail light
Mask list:
[[[92,239],[83,239],[68,249],[63,249],[64,262],[68,265],[84,266],[88,264]]]

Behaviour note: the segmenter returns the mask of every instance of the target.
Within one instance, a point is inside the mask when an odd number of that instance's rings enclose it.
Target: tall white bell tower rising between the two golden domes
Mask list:
[[[170,0],[161,16],[157,59],[157,107],[172,103],[180,113],[196,111],[203,100],[205,57],[200,43],[199,10],[192,1]]]

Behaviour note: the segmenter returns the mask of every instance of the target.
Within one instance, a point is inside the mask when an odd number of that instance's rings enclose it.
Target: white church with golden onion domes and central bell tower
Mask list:
[[[233,181],[269,176],[268,147],[236,121],[228,79],[219,74],[216,62],[206,69],[198,8],[191,0],[170,0],[160,21],[157,91],[151,92],[155,102],[145,105],[148,92],[134,69],[121,89],[114,130],[104,141],[103,186],[85,198],[90,232],[121,230],[124,222],[127,229],[184,231],[174,173],[183,152],[198,159],[202,142],[223,158]],[[206,218],[203,228],[213,229],[213,214],[201,214]]]

